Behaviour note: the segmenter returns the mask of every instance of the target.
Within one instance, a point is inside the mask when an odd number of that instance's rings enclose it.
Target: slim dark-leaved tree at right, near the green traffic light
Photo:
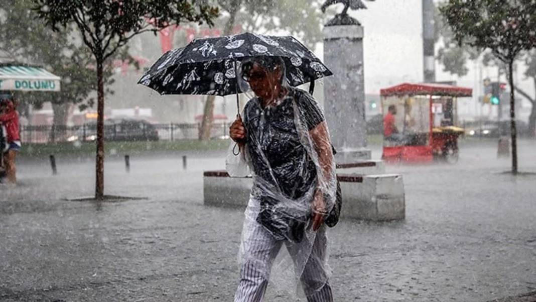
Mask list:
[[[508,67],[512,173],[517,174],[513,62],[536,47],[536,2],[532,0],[449,0],[440,8],[459,45],[489,49]]]

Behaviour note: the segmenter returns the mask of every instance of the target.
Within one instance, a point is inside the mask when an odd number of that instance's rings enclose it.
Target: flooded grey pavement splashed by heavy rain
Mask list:
[[[536,142],[519,149],[536,172]],[[494,142],[460,152],[387,167],[404,176],[403,222],[329,230],[336,301],[530,301],[516,296],[536,290],[536,175],[502,173]],[[51,176],[48,158],[21,158],[20,185],[0,187],[0,301],[232,300],[243,211],[203,205],[224,154],[188,153],[187,170],[182,155],[131,157],[130,173],[109,157],[106,193],[147,198],[102,204],[63,200],[93,194],[93,159],[57,158]],[[269,286],[266,300],[305,299]]]

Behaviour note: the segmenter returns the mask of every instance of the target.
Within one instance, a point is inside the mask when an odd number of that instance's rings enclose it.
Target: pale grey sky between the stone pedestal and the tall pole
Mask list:
[[[399,82],[422,81],[420,0],[366,2],[368,9],[351,15],[364,27],[366,93]]]

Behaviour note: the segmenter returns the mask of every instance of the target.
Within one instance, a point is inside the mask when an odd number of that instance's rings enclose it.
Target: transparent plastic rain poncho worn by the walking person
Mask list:
[[[273,58],[265,60],[260,57],[250,63],[271,70]],[[249,90],[243,80],[247,64],[242,61],[237,68],[242,92]],[[277,91],[281,85],[282,93],[265,107],[259,97],[249,100],[242,113],[247,139],[240,154],[231,144],[226,161],[230,176],[251,174],[254,183],[245,210],[239,263],[242,274],[254,270],[256,277],[270,279],[277,290],[294,292],[301,284],[311,296],[330,275],[325,224],[313,231],[312,216],[322,211],[327,217],[333,208],[336,171],[321,109],[309,93],[289,87],[284,64],[278,66],[283,69],[281,84],[270,83],[270,87]],[[315,198],[324,200],[324,209],[314,207]],[[286,251],[280,251],[282,245]]]

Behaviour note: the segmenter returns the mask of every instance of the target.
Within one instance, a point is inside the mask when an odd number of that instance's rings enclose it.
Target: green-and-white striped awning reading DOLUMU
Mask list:
[[[60,79],[40,67],[0,65],[0,90],[59,91]]]

